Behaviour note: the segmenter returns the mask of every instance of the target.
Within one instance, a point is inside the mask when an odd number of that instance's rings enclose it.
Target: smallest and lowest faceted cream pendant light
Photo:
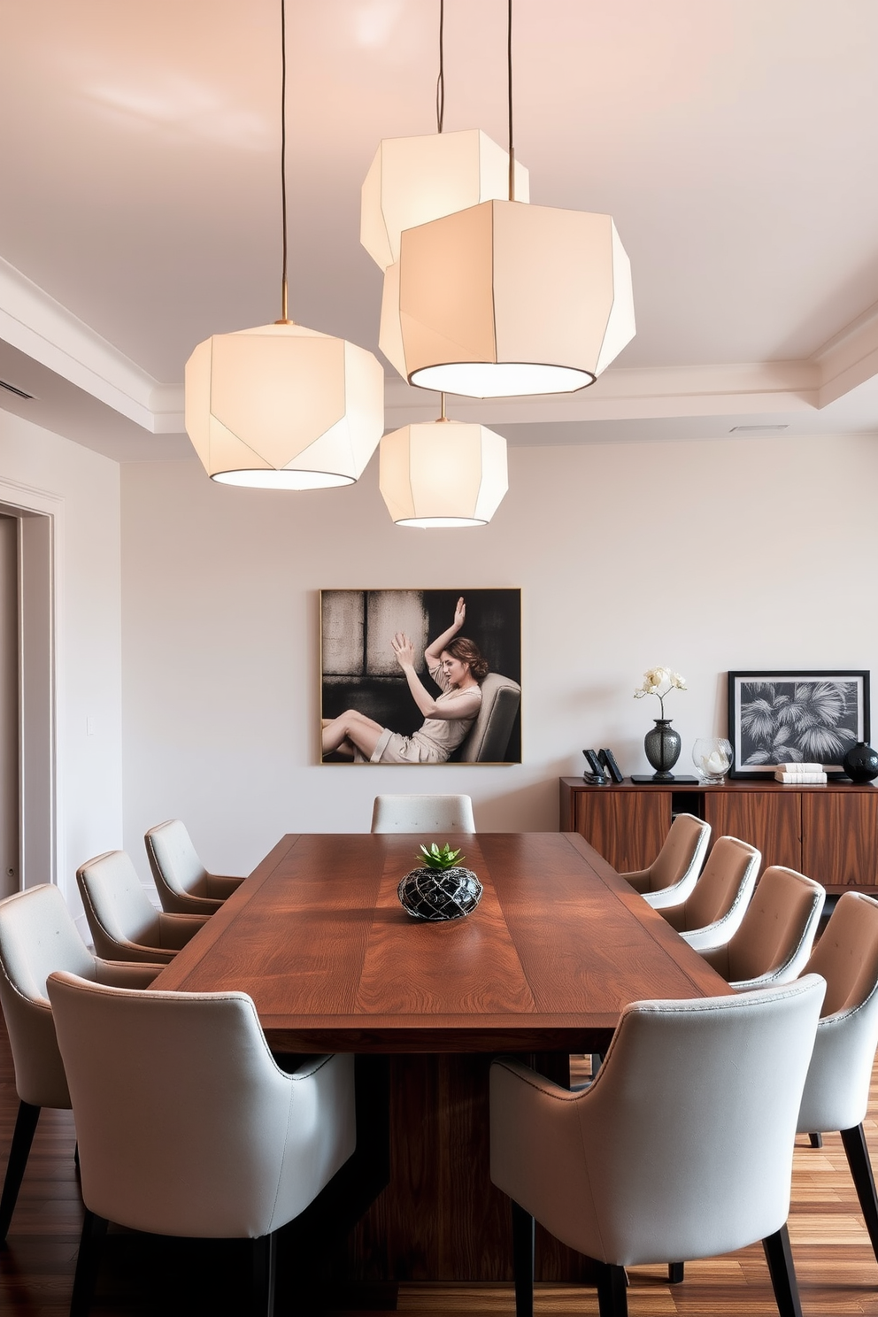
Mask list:
[[[396,525],[486,525],[508,489],[505,440],[484,425],[438,420],[380,441],[379,486]]]

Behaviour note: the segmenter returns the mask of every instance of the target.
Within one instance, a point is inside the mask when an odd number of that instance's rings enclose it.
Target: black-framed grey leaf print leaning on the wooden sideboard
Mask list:
[[[869,740],[869,682],[864,669],[729,672],[729,777],[771,777],[785,763],[842,777],[848,749]]]

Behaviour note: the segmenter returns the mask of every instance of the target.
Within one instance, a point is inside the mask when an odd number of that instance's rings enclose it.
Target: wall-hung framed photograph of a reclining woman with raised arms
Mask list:
[[[521,591],[321,590],[324,764],[520,764]]]

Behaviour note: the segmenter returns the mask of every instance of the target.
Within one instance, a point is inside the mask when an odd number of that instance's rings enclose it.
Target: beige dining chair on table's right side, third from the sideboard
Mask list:
[[[804,873],[765,871],[737,932],[720,947],[695,950],[741,990],[788,982],[804,969],[827,893]]]

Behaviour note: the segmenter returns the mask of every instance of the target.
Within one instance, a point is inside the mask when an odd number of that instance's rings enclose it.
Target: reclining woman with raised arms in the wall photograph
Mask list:
[[[391,640],[412,699],[424,714],[423,727],[403,736],[348,709],[338,718],[324,719],[324,756],[337,753],[361,764],[444,764],[478,716],[482,682],[488,673],[478,645],[458,635],[465,619],[466,603],[461,597],[454,622],[424,653],[429,674],[442,691],[436,699],[415,672],[415,645],[408,636],[398,631]]]

